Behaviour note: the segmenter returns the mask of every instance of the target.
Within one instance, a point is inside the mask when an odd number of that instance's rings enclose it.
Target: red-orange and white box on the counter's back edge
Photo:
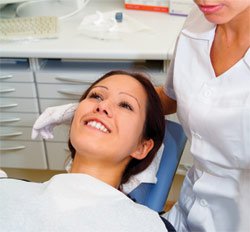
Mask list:
[[[125,8],[168,13],[169,0],[125,0]]]

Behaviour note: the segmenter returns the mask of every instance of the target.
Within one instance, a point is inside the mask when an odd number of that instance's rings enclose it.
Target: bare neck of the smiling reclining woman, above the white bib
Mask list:
[[[96,160],[87,160],[82,156],[76,155],[70,173],[88,174],[118,189],[123,171],[117,166],[111,167]]]

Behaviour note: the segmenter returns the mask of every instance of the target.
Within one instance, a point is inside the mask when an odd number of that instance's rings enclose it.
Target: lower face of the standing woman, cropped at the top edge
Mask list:
[[[194,2],[207,20],[215,24],[228,23],[250,7],[249,0],[194,0]]]

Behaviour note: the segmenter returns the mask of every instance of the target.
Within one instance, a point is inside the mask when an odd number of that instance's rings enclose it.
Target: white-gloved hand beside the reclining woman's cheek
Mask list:
[[[69,123],[79,103],[48,107],[36,120],[32,128],[31,138],[39,135],[44,139],[53,139],[53,129],[62,123]]]

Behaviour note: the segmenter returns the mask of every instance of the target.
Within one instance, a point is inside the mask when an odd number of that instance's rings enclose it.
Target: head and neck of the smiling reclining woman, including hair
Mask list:
[[[151,163],[163,128],[159,98],[147,78],[124,71],[107,73],[84,93],[75,112],[69,140],[71,171],[85,168],[82,163],[87,160],[88,169],[90,163],[98,166],[92,175],[119,187]]]

